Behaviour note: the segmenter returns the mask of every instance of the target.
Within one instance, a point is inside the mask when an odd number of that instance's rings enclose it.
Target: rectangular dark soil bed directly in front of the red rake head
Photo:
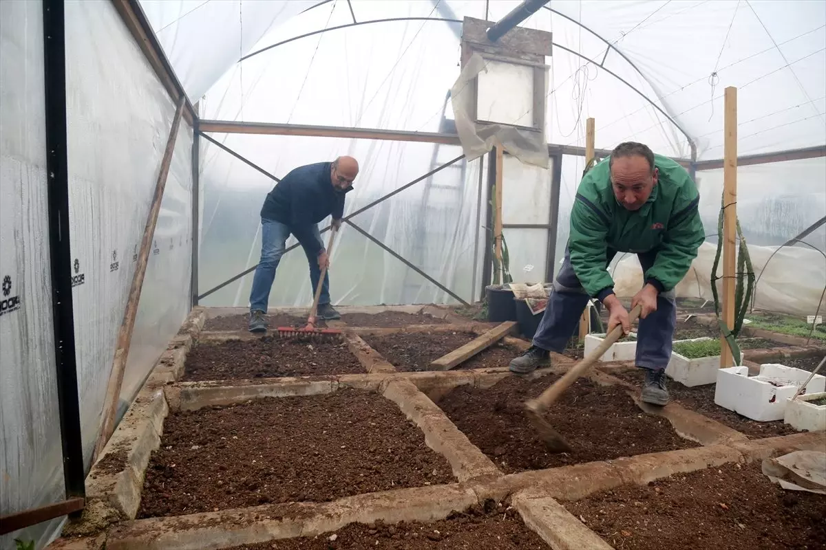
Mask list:
[[[339,339],[301,341],[273,336],[198,344],[187,355],[183,369],[184,382],[365,372]]]

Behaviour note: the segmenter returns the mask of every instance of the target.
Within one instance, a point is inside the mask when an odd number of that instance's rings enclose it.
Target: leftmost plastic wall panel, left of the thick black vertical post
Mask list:
[[[0,2],[0,515],[65,497],[51,316],[43,11]],[[52,521],[0,537],[34,539]]]

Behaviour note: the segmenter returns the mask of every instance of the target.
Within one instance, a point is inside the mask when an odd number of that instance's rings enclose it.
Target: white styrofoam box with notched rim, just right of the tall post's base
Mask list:
[[[786,365],[760,365],[760,374],[748,375],[748,367],[718,369],[714,402],[720,407],[737,412],[754,421],[780,421],[786,414],[786,405],[811,373]],[[826,377],[815,374],[806,385],[805,393],[826,390]]]

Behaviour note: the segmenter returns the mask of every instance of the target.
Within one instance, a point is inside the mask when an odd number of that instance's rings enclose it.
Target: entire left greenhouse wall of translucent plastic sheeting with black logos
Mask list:
[[[0,2],[0,514],[64,499],[45,182],[43,12]],[[66,2],[69,223],[85,467],[175,106],[112,2]],[[105,45],[105,46],[102,46]],[[122,416],[190,309],[192,129],[178,130]],[[69,276],[69,273],[66,274]],[[12,388],[12,389],[10,389]],[[43,548],[63,519],[0,538]]]

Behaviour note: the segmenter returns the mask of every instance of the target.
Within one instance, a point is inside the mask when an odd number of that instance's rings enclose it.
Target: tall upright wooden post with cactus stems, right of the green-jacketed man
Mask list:
[[[737,269],[737,88],[725,89],[723,164],[723,320],[734,327],[734,277]],[[720,335],[720,368],[734,365],[733,355]]]

